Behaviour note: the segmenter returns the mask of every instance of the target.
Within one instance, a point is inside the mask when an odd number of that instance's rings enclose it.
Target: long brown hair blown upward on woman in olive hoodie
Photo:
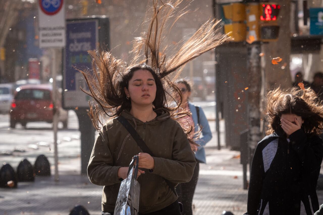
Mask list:
[[[174,54],[166,57],[167,45],[163,39],[167,35],[164,31],[166,26],[172,27],[182,15],[189,12],[188,5],[184,5],[179,13],[176,9],[182,0],[169,1],[163,4],[161,1],[153,0],[151,19],[143,23],[148,24],[147,30],[141,37],[136,37],[133,41],[132,61],[128,66],[120,59],[116,59],[110,52],[89,51],[93,58],[93,71],[79,70],[89,86],[89,92],[82,89],[89,96],[93,97],[96,103],[90,103],[89,116],[92,118],[94,126],[99,130],[105,123],[102,116],[116,117],[124,109],[130,109],[131,103],[126,98],[124,87],[128,87],[128,82],[133,73],[139,69],[146,69],[151,72],[156,81],[156,98],[153,102],[154,108],[165,108],[170,112],[171,118],[178,119],[185,114],[179,111],[179,104],[176,103],[176,95],[182,95],[179,88],[173,83],[182,68],[191,60],[215,47],[231,40],[227,35],[219,33],[219,21],[210,19],[204,23],[194,34],[183,44],[178,43],[174,47]],[[169,18],[175,17],[172,25],[167,25]],[[176,103],[176,107],[168,104]],[[192,129],[191,129],[192,130]],[[190,131],[185,131],[189,133]]]

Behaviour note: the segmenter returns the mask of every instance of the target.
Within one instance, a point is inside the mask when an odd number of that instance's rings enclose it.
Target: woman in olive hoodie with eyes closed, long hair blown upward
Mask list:
[[[176,80],[187,62],[229,40],[226,35],[216,34],[218,22],[209,20],[173,56],[166,57],[163,28],[169,17],[180,17],[183,13],[174,13],[181,1],[158,3],[153,1],[147,33],[135,38],[132,50],[135,56],[129,66],[109,52],[89,52],[93,72],[81,71],[89,86],[88,95],[97,102],[90,105],[89,112],[100,130],[89,160],[88,176],[92,183],[104,186],[102,214],[113,214],[120,182],[126,178],[129,162],[136,154],[141,168],[139,214],[180,214],[177,195],[165,179],[174,186],[189,181],[195,158],[186,137],[191,129],[183,130],[174,120],[187,113],[168,106],[173,104],[176,94],[182,96],[171,80]],[[102,116],[111,118],[103,122]],[[118,121],[119,116],[128,120],[155,157],[141,151]]]

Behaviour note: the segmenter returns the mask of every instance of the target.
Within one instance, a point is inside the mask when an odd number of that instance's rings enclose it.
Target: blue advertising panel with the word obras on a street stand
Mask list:
[[[66,48],[64,50],[64,107],[89,107],[89,96],[80,90],[87,89],[83,75],[78,69],[91,69],[92,59],[88,50],[98,44],[98,20],[67,22]]]

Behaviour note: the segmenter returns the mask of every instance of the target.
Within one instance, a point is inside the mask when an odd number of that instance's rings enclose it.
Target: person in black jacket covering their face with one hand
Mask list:
[[[267,135],[252,161],[247,214],[313,215],[323,157],[323,106],[313,90],[277,88],[267,95]]]

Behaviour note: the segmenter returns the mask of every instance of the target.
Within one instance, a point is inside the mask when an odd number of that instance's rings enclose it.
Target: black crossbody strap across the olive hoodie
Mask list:
[[[117,119],[127,129],[127,131],[130,133],[132,138],[136,141],[138,146],[141,148],[141,150],[145,153],[150,154],[152,157],[155,157],[154,154],[152,153],[152,151],[146,145],[145,141],[143,141],[143,139],[140,137],[138,132],[132,127],[132,125],[128,122],[128,120],[126,118],[124,118],[123,116],[119,116]],[[170,182],[169,180],[167,180],[165,178],[163,178],[163,179],[165,180],[167,185],[172,189],[172,191],[177,196],[174,185],[172,184],[172,182]]]

